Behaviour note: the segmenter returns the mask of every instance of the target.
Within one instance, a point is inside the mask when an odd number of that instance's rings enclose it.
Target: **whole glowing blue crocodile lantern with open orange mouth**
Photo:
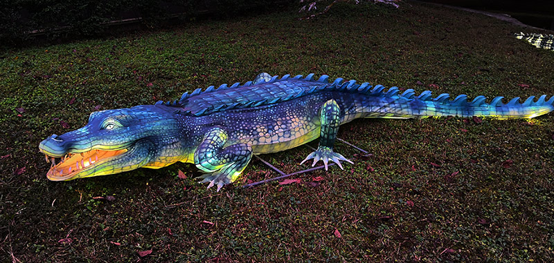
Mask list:
[[[304,159],[342,168],[350,162],[333,150],[341,124],[357,118],[431,116],[533,118],[554,109],[554,97],[519,97],[489,103],[479,96],[431,97],[427,90],[400,94],[396,87],[328,76],[281,78],[262,73],[247,83],[226,84],[185,93],[181,99],[91,113],[87,126],[44,139],[39,150],[53,162],[46,174],[54,181],[109,175],[136,168],[161,168],[175,162],[195,164],[209,187],[229,184],[252,155],[294,148],[319,137],[319,147]],[[57,162],[56,162],[57,161]],[[302,163],[303,163],[302,162]],[[57,164],[56,164],[57,163]],[[352,162],[350,162],[352,163]]]

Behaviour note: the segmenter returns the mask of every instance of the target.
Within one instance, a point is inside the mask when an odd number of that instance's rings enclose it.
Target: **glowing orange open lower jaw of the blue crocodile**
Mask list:
[[[127,152],[126,148],[120,150],[88,150],[84,153],[66,153],[64,157],[55,158],[46,156],[46,162],[52,166],[46,177],[52,181],[66,181],[93,175],[101,175],[96,171],[100,164],[105,164]]]

